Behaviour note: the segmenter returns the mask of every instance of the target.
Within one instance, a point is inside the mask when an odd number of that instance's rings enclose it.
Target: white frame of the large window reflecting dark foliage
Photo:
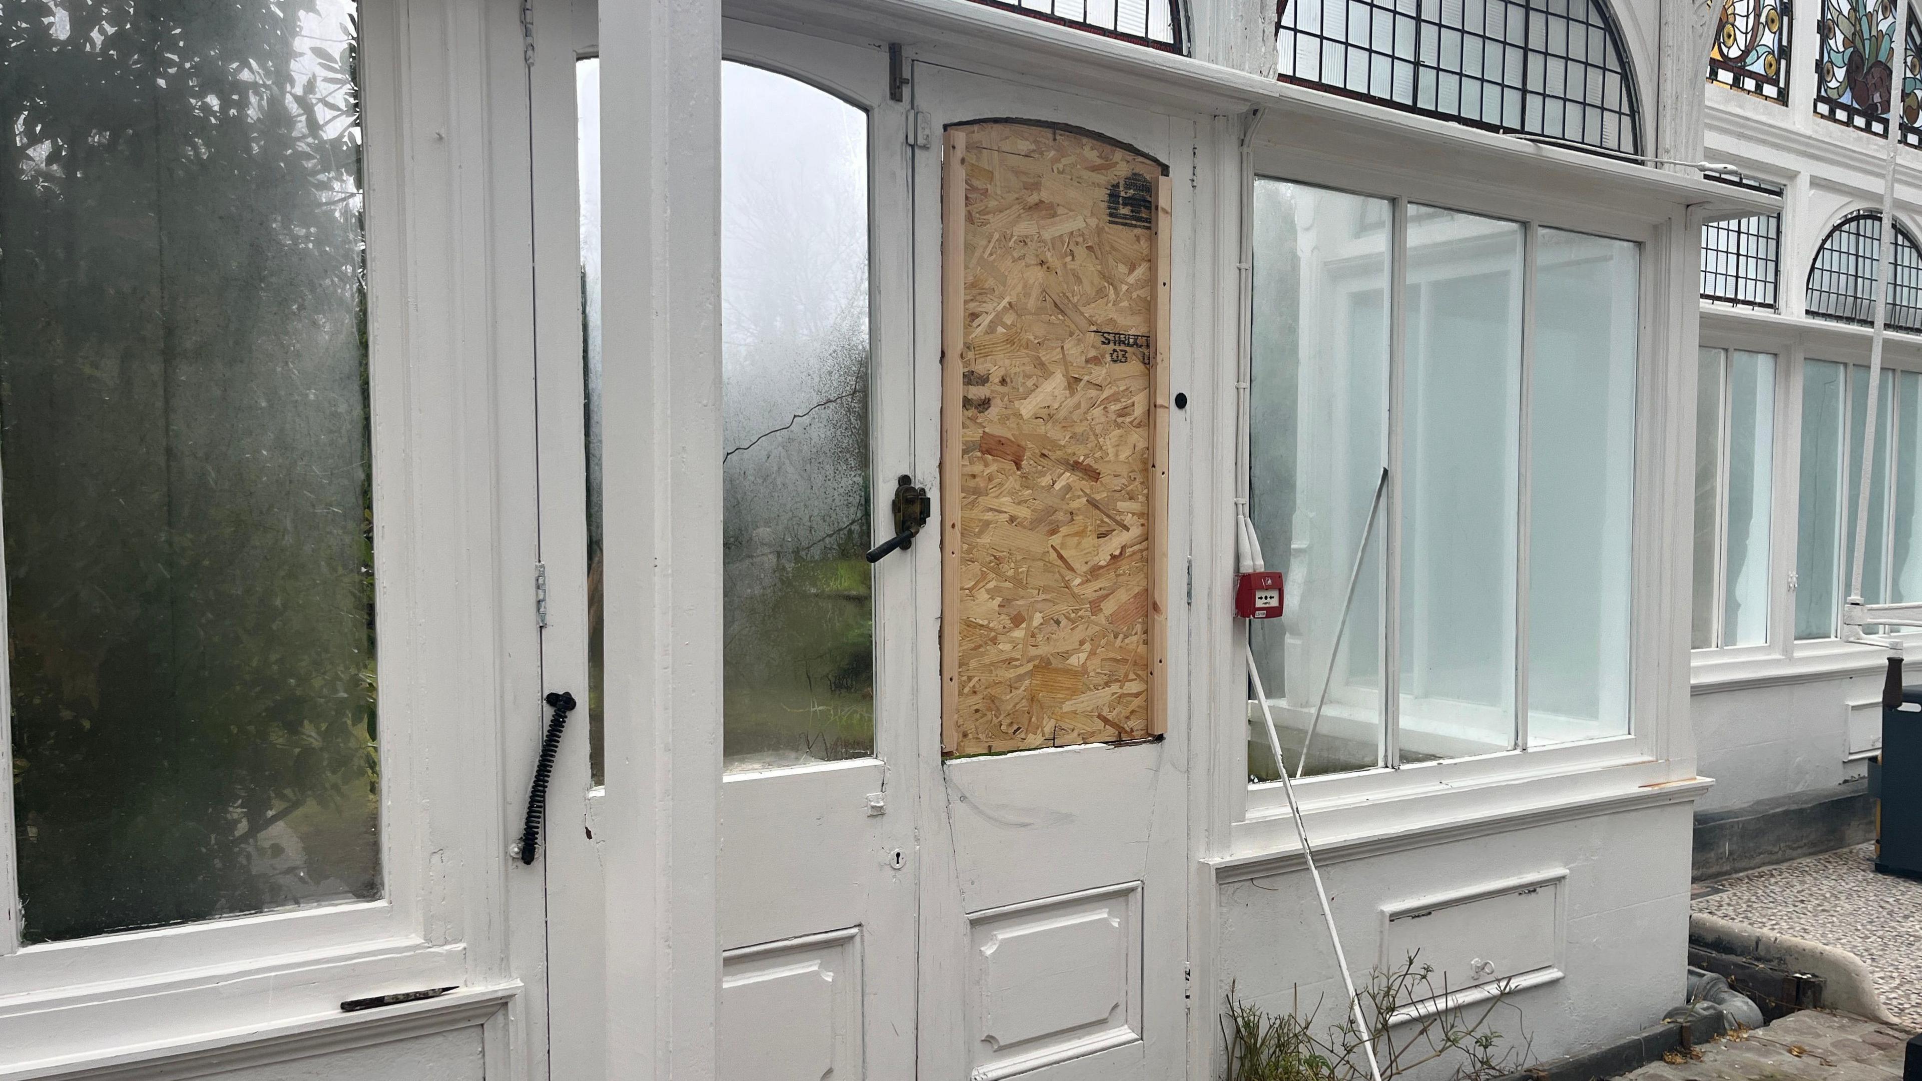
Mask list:
[[[0,1077],[325,1029],[350,998],[457,987],[431,1006],[454,1016],[513,994],[507,912],[542,889],[505,856],[530,762],[507,717],[538,717],[532,458],[511,458],[532,398],[494,367],[530,369],[532,333],[519,265],[496,269],[529,223],[490,206],[529,204],[496,190],[527,177],[523,37],[452,0],[359,19],[381,898],[23,946],[0,710]]]

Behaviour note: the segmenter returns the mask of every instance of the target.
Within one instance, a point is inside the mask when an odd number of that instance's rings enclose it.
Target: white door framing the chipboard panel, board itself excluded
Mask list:
[[[982,119],[1059,125],[1186,179],[1195,129],[1184,117],[934,63],[913,65],[911,94],[928,131],[915,150],[915,371],[926,410],[942,396],[944,133]],[[1172,189],[1172,273],[1182,296],[1190,189]],[[1180,371],[1180,348],[1169,354]],[[934,473],[936,412],[921,421],[919,471]],[[1172,515],[1167,544],[1186,546]],[[938,573],[919,585],[923,608],[936,608]],[[1170,587],[1163,583],[1163,594],[1180,596]],[[923,689],[938,698],[940,650],[926,639],[921,650]],[[1180,685],[1174,667],[1165,687]],[[1169,735],[1126,744],[944,760],[940,723],[923,717],[921,1077],[1184,1075],[1188,771],[1180,696],[1163,694]]]

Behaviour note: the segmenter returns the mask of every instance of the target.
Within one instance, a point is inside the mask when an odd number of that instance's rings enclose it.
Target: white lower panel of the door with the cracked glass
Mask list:
[[[721,1081],[861,1077],[861,931],[721,956]]]

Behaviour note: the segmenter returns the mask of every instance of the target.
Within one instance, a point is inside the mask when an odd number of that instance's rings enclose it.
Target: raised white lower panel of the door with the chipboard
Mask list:
[[[969,916],[974,1081],[1142,1039],[1142,885]]]

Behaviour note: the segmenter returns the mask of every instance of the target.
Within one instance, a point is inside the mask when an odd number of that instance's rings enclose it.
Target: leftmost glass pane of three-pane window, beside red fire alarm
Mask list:
[[[1386,515],[1368,535],[1340,641],[1336,625],[1384,464],[1388,221],[1384,200],[1255,181],[1249,515],[1288,585],[1286,617],[1249,633],[1292,773],[1324,683],[1307,773],[1382,762]],[[1278,779],[1261,723],[1249,729],[1249,773]]]

